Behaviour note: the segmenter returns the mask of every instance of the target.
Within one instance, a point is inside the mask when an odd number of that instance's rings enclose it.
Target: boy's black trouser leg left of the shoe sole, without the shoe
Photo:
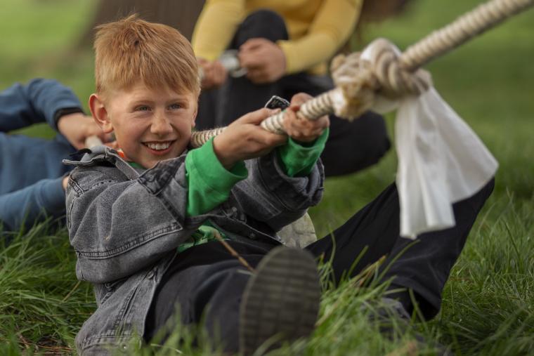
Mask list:
[[[211,340],[223,341],[225,350],[237,351],[240,299],[248,281],[249,273],[237,260],[172,274],[158,286],[145,323],[145,340],[161,330],[166,339],[176,326],[173,318],[178,312],[181,324],[204,322]]]

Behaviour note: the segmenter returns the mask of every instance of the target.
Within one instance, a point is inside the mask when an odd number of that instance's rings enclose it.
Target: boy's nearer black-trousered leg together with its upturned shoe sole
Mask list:
[[[198,247],[197,252],[221,253],[219,242]],[[152,301],[145,340],[168,322],[172,327],[177,305],[182,324],[203,322],[210,340],[221,341],[228,352],[241,350],[251,355],[275,334],[284,333],[284,340],[291,341],[311,333],[320,299],[313,256],[285,247],[267,255],[242,256],[255,268],[254,273],[229,253],[223,256],[229,258],[226,261],[178,268],[176,272],[173,269],[177,266],[171,265]],[[204,261],[197,263],[206,263],[205,257],[200,259]],[[164,338],[167,336],[168,332]]]

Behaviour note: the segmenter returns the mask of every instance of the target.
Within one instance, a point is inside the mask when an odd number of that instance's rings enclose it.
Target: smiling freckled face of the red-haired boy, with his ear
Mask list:
[[[89,105],[103,130],[115,133],[126,157],[146,169],[185,150],[197,116],[193,93],[150,89],[143,83],[110,91],[105,104],[93,94]]]

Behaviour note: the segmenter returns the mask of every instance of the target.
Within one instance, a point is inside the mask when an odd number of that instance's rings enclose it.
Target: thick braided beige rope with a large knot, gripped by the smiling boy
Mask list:
[[[360,53],[339,55],[332,60],[331,68],[336,88],[308,100],[297,115],[313,120],[334,113],[350,120],[369,110],[377,94],[398,98],[424,93],[432,86],[431,77],[419,67],[533,5],[534,0],[491,0],[432,32],[404,53],[398,52],[386,39],[377,39],[367,47],[372,49],[370,60],[361,59]],[[278,113],[264,120],[261,126],[274,133],[284,133],[283,119],[283,112]],[[200,147],[220,132],[221,128],[195,132],[191,146]]]

